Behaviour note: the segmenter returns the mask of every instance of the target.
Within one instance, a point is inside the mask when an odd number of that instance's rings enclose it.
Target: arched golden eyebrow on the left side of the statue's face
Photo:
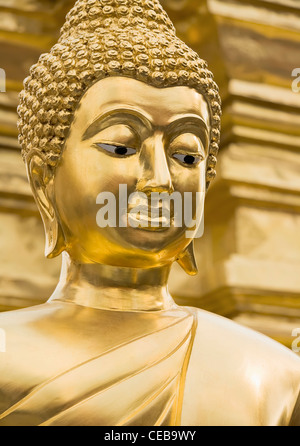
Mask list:
[[[124,121],[126,115],[126,121],[128,119],[136,125],[142,125],[143,127],[151,128],[151,124],[148,119],[142,116],[140,113],[129,109],[118,109],[107,112],[99,116],[84,132],[82,141],[92,138],[97,133],[104,130],[109,125],[121,124]]]

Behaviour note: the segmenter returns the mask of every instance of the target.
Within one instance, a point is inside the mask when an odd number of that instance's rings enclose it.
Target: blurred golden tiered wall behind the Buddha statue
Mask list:
[[[0,0],[0,311],[44,302],[60,259],[44,234],[17,142],[18,92],[57,40],[75,0]],[[300,327],[299,0],[161,0],[178,35],[214,72],[223,99],[218,176],[196,242],[199,274],[177,265],[176,301],[221,314],[288,347]],[[300,329],[299,329],[300,331]],[[222,340],[220,339],[220,342]]]

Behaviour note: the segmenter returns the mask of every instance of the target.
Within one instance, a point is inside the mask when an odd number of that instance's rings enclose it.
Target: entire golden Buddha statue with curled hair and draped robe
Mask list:
[[[172,300],[172,263],[196,273],[186,225],[97,223],[120,185],[198,192],[203,213],[221,114],[206,63],[157,0],[79,0],[30,73],[20,143],[62,271],[45,304],[0,315],[0,425],[299,425],[294,353]]]

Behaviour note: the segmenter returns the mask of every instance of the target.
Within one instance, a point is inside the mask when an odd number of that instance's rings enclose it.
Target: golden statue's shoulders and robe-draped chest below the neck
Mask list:
[[[0,426],[300,424],[300,359],[189,307],[0,314]]]

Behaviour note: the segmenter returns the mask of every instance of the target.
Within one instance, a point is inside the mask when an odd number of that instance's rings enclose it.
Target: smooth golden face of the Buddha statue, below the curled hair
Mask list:
[[[196,192],[205,194],[208,129],[207,103],[188,87],[155,88],[125,77],[94,84],[81,99],[54,177],[56,215],[70,256],[132,267],[174,261],[191,241],[184,221],[176,227],[171,205],[169,227],[161,214],[155,225],[149,214],[147,226],[120,227],[119,186],[127,196],[142,192],[149,200],[152,192],[190,192],[195,204]],[[116,225],[97,223],[103,192],[116,198]]]

